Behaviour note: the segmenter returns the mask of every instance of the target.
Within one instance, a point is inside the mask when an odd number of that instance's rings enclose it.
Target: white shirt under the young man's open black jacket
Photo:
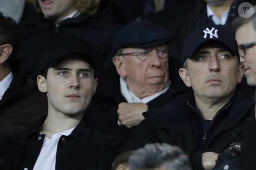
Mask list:
[[[74,129],[75,127],[53,134],[52,138],[45,136],[44,143],[33,170],[55,170],[56,152],[60,137],[62,135],[68,136]]]

